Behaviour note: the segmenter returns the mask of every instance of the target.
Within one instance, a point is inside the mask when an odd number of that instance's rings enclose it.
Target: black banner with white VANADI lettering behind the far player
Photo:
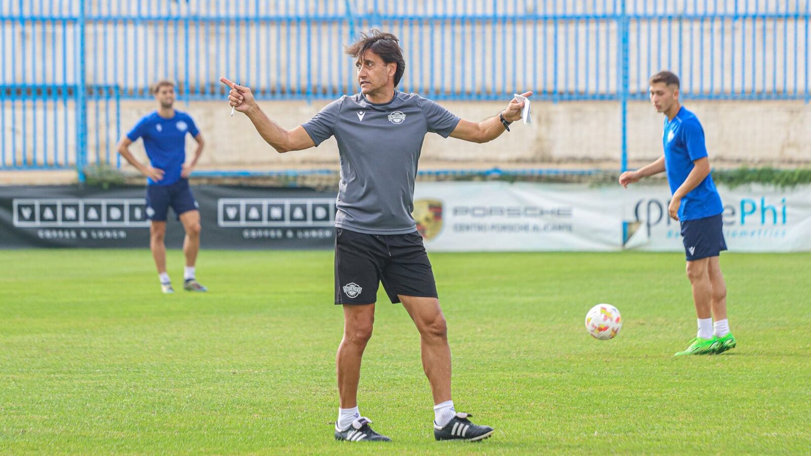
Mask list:
[[[332,248],[333,192],[192,187],[204,248]],[[148,247],[144,187],[0,187],[0,248]],[[166,245],[182,247],[169,210]]]

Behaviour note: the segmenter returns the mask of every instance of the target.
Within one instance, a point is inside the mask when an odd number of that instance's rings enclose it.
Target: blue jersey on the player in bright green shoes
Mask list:
[[[693,170],[693,161],[707,156],[704,145],[704,129],[695,114],[682,107],[673,120],[664,119],[662,134],[664,163],[671,193],[681,187]],[[694,220],[723,213],[723,204],[712,176],[707,175],[702,183],[681,199],[679,220]]]

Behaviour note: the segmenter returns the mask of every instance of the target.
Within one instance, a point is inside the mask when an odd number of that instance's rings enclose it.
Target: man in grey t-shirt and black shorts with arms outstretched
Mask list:
[[[390,441],[373,431],[358,411],[358,381],[363,351],[371,338],[380,282],[392,303],[402,303],[420,333],[423,369],[434,398],[436,440],[477,441],[493,428],[470,422],[451,400],[448,331],[431,262],[411,217],[414,179],[425,135],[477,143],[496,139],[521,118],[523,102],[482,122],[458,118],[415,93],[397,91],[405,60],[397,37],[371,30],[346,48],[356,59],[360,93],[327,105],[293,130],[270,120],[251,89],[228,85],[230,105],[247,114],[260,135],[285,153],[317,147],[335,136],[341,155],[341,183],[335,217],[335,303],[344,310],[344,337],[337,352],[340,407],[335,438]],[[523,95],[529,97],[532,92]]]

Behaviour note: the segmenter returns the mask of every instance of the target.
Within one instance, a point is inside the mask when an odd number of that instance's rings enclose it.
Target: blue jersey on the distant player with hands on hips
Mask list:
[[[147,179],[149,185],[171,185],[178,182],[186,161],[186,135],[197,136],[195,121],[184,112],[175,110],[173,118],[162,118],[156,112],[147,114],[127,133],[131,141],[144,138],[144,148],[152,168],[163,170],[158,182]]]

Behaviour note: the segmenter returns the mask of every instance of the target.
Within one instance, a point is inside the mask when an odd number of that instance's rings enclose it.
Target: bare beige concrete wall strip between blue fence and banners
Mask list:
[[[322,105],[304,102],[265,102],[268,116],[285,128],[306,122]],[[478,121],[506,105],[497,102],[444,102],[448,110]],[[536,102],[532,127],[514,124],[489,144],[472,144],[429,134],[421,164],[466,166],[544,166],[553,163],[620,161],[620,106],[616,102]],[[701,119],[710,159],[728,163],[811,164],[811,105],[778,101],[687,102]],[[127,102],[122,127],[154,110],[152,102]],[[228,116],[226,103],[194,102],[187,110],[200,127],[208,147],[201,165],[217,167],[334,166],[337,144],[327,140],[318,148],[277,154],[264,143],[242,114]],[[647,103],[629,105],[629,160],[651,161],[662,153],[662,114]],[[134,150],[141,150],[140,142]],[[190,140],[188,150],[193,149]]]

